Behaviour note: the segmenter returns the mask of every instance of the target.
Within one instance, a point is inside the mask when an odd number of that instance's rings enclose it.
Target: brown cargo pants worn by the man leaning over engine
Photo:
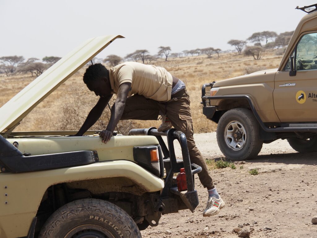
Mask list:
[[[186,135],[191,162],[202,167],[202,171],[198,173],[201,184],[204,188],[214,188],[206,161],[194,141],[190,103],[186,89],[173,94],[171,100],[167,102],[158,102],[141,95],[133,95],[126,100],[121,120],[157,120],[159,111],[161,111],[170,119],[176,130]]]

